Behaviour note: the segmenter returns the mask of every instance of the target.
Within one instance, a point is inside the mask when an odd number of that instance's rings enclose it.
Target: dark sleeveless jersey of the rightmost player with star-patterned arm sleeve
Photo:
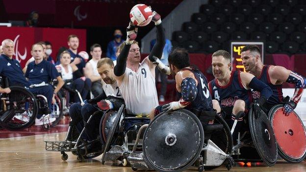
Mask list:
[[[272,96],[268,99],[268,104],[280,104],[280,102],[283,101],[282,97],[282,84],[280,85],[274,85],[270,81],[270,76],[268,73],[268,70],[270,68],[270,65],[264,65],[263,69],[261,71],[260,76],[258,77],[259,80],[261,80],[263,83],[269,85],[269,87],[272,89]],[[252,91],[253,99],[260,98],[260,92],[258,91]]]

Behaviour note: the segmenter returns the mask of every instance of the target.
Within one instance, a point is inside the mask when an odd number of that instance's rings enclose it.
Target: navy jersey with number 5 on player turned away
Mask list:
[[[204,74],[202,74],[202,72],[197,69],[183,69],[183,70],[188,70],[192,72],[198,81],[197,97],[188,106],[186,106],[185,109],[188,109],[188,110],[198,109],[198,110],[205,110],[205,111],[213,111],[212,98],[211,98],[211,95],[209,94],[208,82]]]

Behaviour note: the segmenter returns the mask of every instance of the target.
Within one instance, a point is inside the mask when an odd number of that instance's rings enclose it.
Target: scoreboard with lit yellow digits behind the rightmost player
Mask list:
[[[263,62],[264,57],[264,43],[255,41],[239,41],[230,42],[230,55],[231,55],[231,69],[233,71],[241,70],[245,72],[244,66],[242,65],[242,59],[240,58],[240,50],[246,45],[256,45],[261,51],[261,61]]]

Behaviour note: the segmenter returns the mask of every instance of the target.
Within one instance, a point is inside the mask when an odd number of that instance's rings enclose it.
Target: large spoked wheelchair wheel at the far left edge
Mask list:
[[[9,130],[20,130],[31,126],[38,113],[36,98],[24,87],[9,88],[11,93],[0,95],[0,125]]]

